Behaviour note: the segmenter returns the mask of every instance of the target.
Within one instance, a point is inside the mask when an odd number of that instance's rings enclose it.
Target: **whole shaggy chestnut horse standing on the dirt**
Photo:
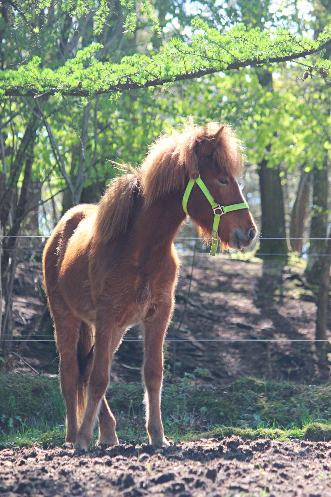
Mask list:
[[[188,212],[201,235],[215,232],[222,249],[252,243],[256,226],[236,180],[241,170],[242,145],[230,127],[188,124],[181,133],[161,136],[137,170],[131,168],[110,183],[99,205],[73,207],[54,229],[43,271],[60,353],[66,441],[76,448],[87,449],[96,416],[97,445],[118,443],[105,392],[114,352],[136,323],[144,329],[149,441],[168,444],[160,392],[163,340],[179,267],[173,241]],[[202,187],[193,184],[184,210],[187,185],[198,177],[222,208],[213,212]],[[232,211],[233,204],[239,210]],[[218,216],[215,230],[217,209],[227,213]]]

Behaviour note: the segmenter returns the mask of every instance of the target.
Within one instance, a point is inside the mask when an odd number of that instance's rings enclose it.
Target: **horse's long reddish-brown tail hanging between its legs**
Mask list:
[[[84,321],[80,325],[77,343],[77,362],[79,368],[78,390],[76,399],[76,412],[78,425],[81,424],[86,408],[86,387],[89,377],[89,364],[93,358],[94,329]]]

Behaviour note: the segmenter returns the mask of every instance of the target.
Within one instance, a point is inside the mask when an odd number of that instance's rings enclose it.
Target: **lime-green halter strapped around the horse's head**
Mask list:
[[[183,196],[183,209],[184,209],[184,212],[186,212],[186,214],[189,214],[188,210],[187,210],[189,196],[190,196],[190,193],[191,193],[192,188],[194,187],[195,183],[197,183],[197,185],[200,187],[200,189],[204,193],[204,196],[207,198],[209,204],[211,205],[212,210],[214,211],[214,222],[212,224],[212,230],[211,230],[212,243],[211,243],[211,248],[210,248],[209,253],[210,253],[210,255],[215,255],[216,250],[217,250],[217,246],[218,246],[218,238],[219,238],[218,237],[218,226],[219,226],[221,216],[223,216],[223,214],[226,214],[227,212],[237,211],[239,209],[249,209],[249,207],[248,207],[247,202],[241,202],[240,204],[232,204],[232,205],[225,205],[225,206],[217,204],[215,202],[215,200],[213,199],[212,195],[210,194],[210,191],[208,190],[208,188],[206,187],[206,185],[204,184],[204,182],[200,178],[200,173],[198,171],[197,171],[197,175],[198,175],[198,177],[196,179],[190,178],[188,185],[185,189],[184,196]],[[218,214],[216,211],[220,211],[220,213]]]

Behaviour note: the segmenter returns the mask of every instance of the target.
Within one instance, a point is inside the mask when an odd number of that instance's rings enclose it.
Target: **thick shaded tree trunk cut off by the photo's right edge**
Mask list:
[[[310,225],[310,237],[322,240],[310,240],[308,262],[305,269],[305,277],[309,283],[320,282],[322,274],[323,257],[318,254],[324,253],[325,239],[328,230],[328,158],[325,158],[322,168],[314,166],[313,169],[313,209]]]

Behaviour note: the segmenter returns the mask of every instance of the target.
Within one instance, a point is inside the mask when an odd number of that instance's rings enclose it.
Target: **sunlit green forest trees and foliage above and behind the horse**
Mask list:
[[[17,237],[98,201],[112,161],[139,164],[189,115],[226,121],[245,143],[261,256],[292,250],[308,280],[329,275],[328,1],[5,0],[0,32],[2,330]]]

